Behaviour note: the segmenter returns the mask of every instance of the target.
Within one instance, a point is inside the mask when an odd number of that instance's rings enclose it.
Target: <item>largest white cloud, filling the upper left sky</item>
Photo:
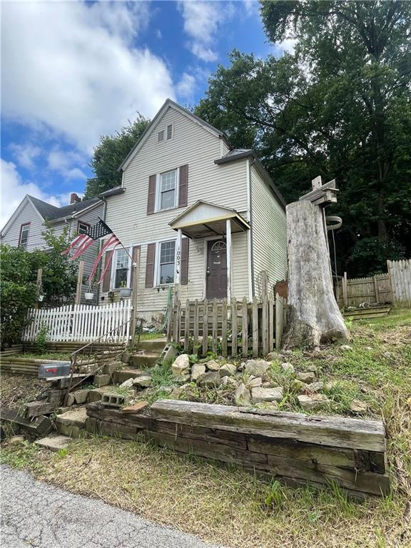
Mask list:
[[[91,152],[136,111],[153,116],[174,98],[166,64],[131,42],[148,23],[141,2],[2,4],[6,118]]]

